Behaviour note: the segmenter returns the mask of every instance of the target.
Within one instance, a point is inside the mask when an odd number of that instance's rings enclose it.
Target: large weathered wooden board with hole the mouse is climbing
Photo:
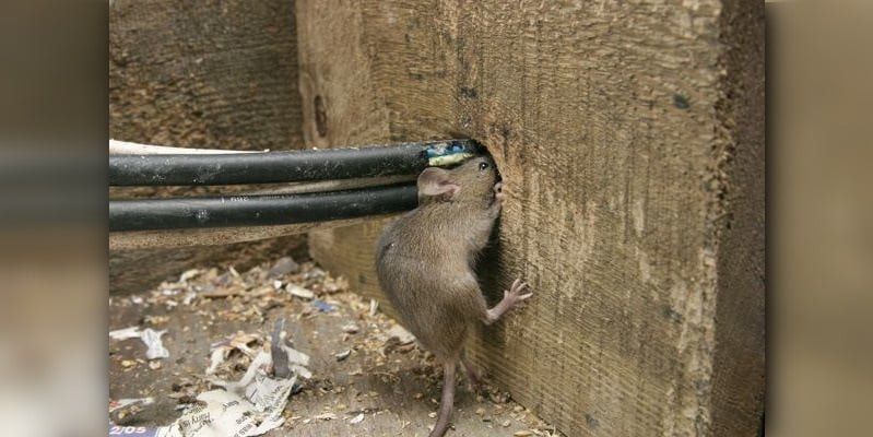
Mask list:
[[[760,423],[764,24],[741,3],[296,2],[308,144],[494,154],[484,288],[522,276],[536,297],[474,361],[570,436]],[[319,232],[311,252],[376,294],[378,234]]]

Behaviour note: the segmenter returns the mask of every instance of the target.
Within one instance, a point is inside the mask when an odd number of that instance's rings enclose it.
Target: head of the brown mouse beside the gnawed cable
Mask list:
[[[418,203],[469,202],[494,196],[497,168],[487,156],[470,160],[452,169],[429,167],[418,175]]]

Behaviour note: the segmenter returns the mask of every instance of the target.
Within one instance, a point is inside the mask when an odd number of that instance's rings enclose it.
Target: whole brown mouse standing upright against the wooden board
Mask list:
[[[418,176],[418,208],[388,225],[379,238],[379,284],[400,321],[444,365],[443,401],[430,437],[446,433],[455,402],[455,369],[462,362],[470,381],[479,373],[463,354],[474,323],[491,324],[531,294],[516,280],[488,308],[473,272],[504,199],[494,162],[476,157],[447,170]]]

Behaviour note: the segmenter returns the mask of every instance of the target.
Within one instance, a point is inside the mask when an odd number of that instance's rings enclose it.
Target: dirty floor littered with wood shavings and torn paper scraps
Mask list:
[[[274,322],[309,355],[311,377],[299,377],[284,424],[268,436],[426,436],[436,421],[441,370],[376,302],[312,262],[282,258],[246,272],[233,268],[184,272],[144,293],[109,298],[109,330],[166,331],[167,358],[146,359],[138,338],[109,340],[109,418],[130,427],[168,426],[193,408],[216,379],[237,381]],[[207,375],[212,350],[226,359]],[[449,436],[557,435],[493,387],[476,394],[459,376]],[[118,408],[119,401],[151,398]]]

